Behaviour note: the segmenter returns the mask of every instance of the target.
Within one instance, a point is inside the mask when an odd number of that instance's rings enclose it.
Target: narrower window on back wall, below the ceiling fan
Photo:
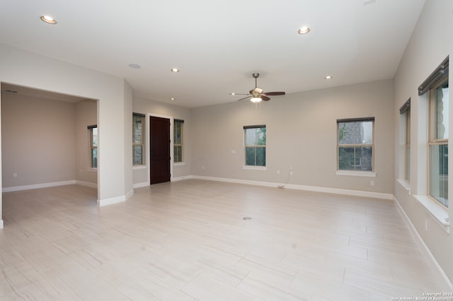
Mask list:
[[[266,165],[266,126],[244,126],[246,166]]]

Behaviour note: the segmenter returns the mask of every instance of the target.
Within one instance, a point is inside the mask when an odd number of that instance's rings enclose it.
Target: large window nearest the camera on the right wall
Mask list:
[[[430,196],[448,207],[448,73],[428,90],[430,131],[428,142],[428,190]]]

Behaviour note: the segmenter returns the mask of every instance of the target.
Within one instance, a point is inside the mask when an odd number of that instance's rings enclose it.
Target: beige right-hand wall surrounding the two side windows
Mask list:
[[[423,8],[418,23],[415,26],[411,40],[395,76],[395,105],[393,110],[396,123],[395,165],[394,178],[403,179],[404,155],[403,141],[404,119],[398,109],[403,102],[411,98],[411,191],[400,184],[394,185],[394,195],[401,204],[418,235],[422,237],[432,256],[445,271],[449,281],[453,280],[453,239],[436,219],[422,206],[413,194],[426,194],[426,131],[427,131],[427,100],[426,96],[418,96],[418,85],[450,55],[452,59],[453,39],[453,1],[428,0]],[[450,63],[451,65],[451,63]],[[449,86],[452,86],[452,76],[449,76]],[[452,100],[452,90],[449,90]],[[449,106],[449,133],[453,133],[453,106]],[[452,138],[449,138],[449,148],[452,149]],[[449,170],[453,170],[452,160]],[[453,191],[453,177],[449,174],[449,191]],[[451,203],[451,201],[450,201]],[[448,209],[450,220],[453,206]]]

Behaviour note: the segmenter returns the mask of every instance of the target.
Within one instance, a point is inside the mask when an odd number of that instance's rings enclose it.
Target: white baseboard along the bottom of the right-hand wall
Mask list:
[[[411,222],[411,219],[407,216],[406,212],[404,211],[403,207],[401,207],[401,204],[398,202],[396,197],[394,197],[394,203],[401,218],[403,218],[404,222],[408,226],[408,229],[411,232],[415,240],[415,243],[418,245],[418,249],[420,249],[420,251],[423,253],[423,256],[425,256],[425,259],[427,259],[428,263],[430,263],[432,271],[437,271],[438,275],[442,277],[443,281],[445,281],[445,284],[447,284],[449,289],[452,290],[453,289],[452,282],[449,280],[445,271],[442,269],[442,267],[439,265],[435,257],[432,255],[430,249],[423,241],[423,238],[420,236],[417,229],[415,229],[415,226]]]

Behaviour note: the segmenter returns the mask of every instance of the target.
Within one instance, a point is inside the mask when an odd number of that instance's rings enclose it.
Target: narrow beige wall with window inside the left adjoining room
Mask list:
[[[87,126],[98,124],[98,104],[96,100],[76,103],[76,180],[97,184],[98,172],[91,167],[90,132]]]

